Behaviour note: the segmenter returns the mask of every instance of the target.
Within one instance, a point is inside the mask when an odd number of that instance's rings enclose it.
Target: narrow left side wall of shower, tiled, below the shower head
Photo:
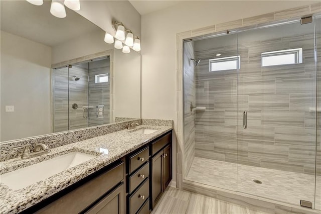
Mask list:
[[[187,175],[195,157],[195,111],[190,111],[190,104],[196,105],[195,99],[195,62],[192,42],[184,45],[184,172]]]

